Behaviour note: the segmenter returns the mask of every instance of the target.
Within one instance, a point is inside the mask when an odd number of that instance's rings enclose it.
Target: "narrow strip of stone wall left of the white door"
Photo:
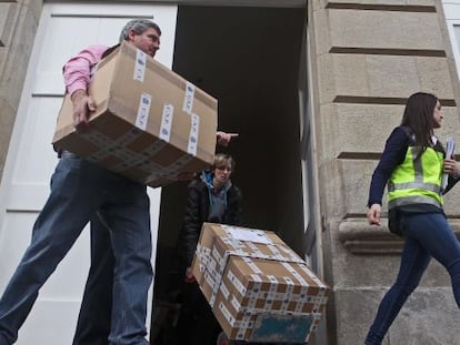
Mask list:
[[[42,0],[0,0],[0,177],[42,6]]]

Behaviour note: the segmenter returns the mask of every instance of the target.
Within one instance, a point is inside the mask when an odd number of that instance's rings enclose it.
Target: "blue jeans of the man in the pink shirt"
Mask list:
[[[146,186],[64,154],[31,244],[0,300],[0,345],[16,342],[40,287],[97,212],[111,230],[114,254],[109,344],[149,344],[144,336],[152,267]]]

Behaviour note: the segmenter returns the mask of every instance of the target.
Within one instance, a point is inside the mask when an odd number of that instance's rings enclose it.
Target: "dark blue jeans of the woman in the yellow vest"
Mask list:
[[[444,214],[404,214],[402,222],[406,243],[398,278],[380,303],[366,345],[381,344],[402,305],[419,285],[431,257],[449,272],[453,296],[460,307],[460,245]]]

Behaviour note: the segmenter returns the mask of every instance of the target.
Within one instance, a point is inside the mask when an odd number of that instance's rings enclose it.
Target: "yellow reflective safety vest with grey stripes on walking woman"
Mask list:
[[[392,172],[388,182],[388,209],[411,204],[442,206],[442,168],[444,153],[427,148],[408,146],[404,161]]]

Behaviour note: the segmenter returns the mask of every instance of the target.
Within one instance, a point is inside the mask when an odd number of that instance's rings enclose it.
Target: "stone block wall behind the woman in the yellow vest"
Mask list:
[[[439,0],[310,0],[308,26],[329,345],[363,344],[402,246],[386,219],[366,222],[371,174],[413,92],[440,98],[438,134],[460,142],[458,77]],[[459,196],[446,197],[457,231]],[[449,276],[432,262],[383,344],[458,344],[459,323]]]

